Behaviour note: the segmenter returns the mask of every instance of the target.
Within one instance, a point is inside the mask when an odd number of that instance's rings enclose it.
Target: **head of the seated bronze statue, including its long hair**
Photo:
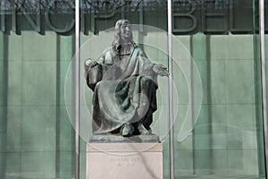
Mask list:
[[[132,43],[132,30],[129,20],[119,20],[115,23],[113,46],[116,48],[122,44]]]

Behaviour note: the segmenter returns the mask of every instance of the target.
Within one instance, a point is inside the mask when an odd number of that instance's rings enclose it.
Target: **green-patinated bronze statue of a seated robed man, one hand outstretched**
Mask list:
[[[135,44],[130,21],[117,21],[112,47],[105,50],[100,63],[85,61],[87,84],[94,91],[94,134],[151,134],[157,75],[169,73],[162,64],[151,63]]]

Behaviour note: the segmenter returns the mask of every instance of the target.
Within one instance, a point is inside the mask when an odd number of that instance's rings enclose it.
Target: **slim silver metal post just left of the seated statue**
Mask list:
[[[80,178],[80,0],[75,0],[75,179]]]

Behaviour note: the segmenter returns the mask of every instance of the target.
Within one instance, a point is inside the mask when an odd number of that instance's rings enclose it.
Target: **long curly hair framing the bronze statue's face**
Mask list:
[[[122,42],[121,42],[121,26],[125,23],[130,24],[130,21],[129,20],[119,20],[119,21],[116,21],[116,23],[115,23],[114,39],[113,39],[113,43],[112,43],[113,49],[115,49],[115,50],[121,49],[121,44],[122,44]],[[130,34],[130,43],[134,44],[132,32]]]

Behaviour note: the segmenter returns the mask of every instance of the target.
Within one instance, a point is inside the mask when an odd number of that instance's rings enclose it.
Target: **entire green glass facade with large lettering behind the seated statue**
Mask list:
[[[267,69],[268,48],[266,33],[261,46],[260,25],[267,32],[267,2],[265,21],[257,0],[173,0],[172,9],[165,0],[0,2],[1,179],[86,178],[93,93],[83,63],[99,60],[119,19],[130,20],[134,41],[150,60],[169,66],[172,57],[172,83],[158,79],[152,124],[163,142],[163,178],[266,177],[261,50]]]

